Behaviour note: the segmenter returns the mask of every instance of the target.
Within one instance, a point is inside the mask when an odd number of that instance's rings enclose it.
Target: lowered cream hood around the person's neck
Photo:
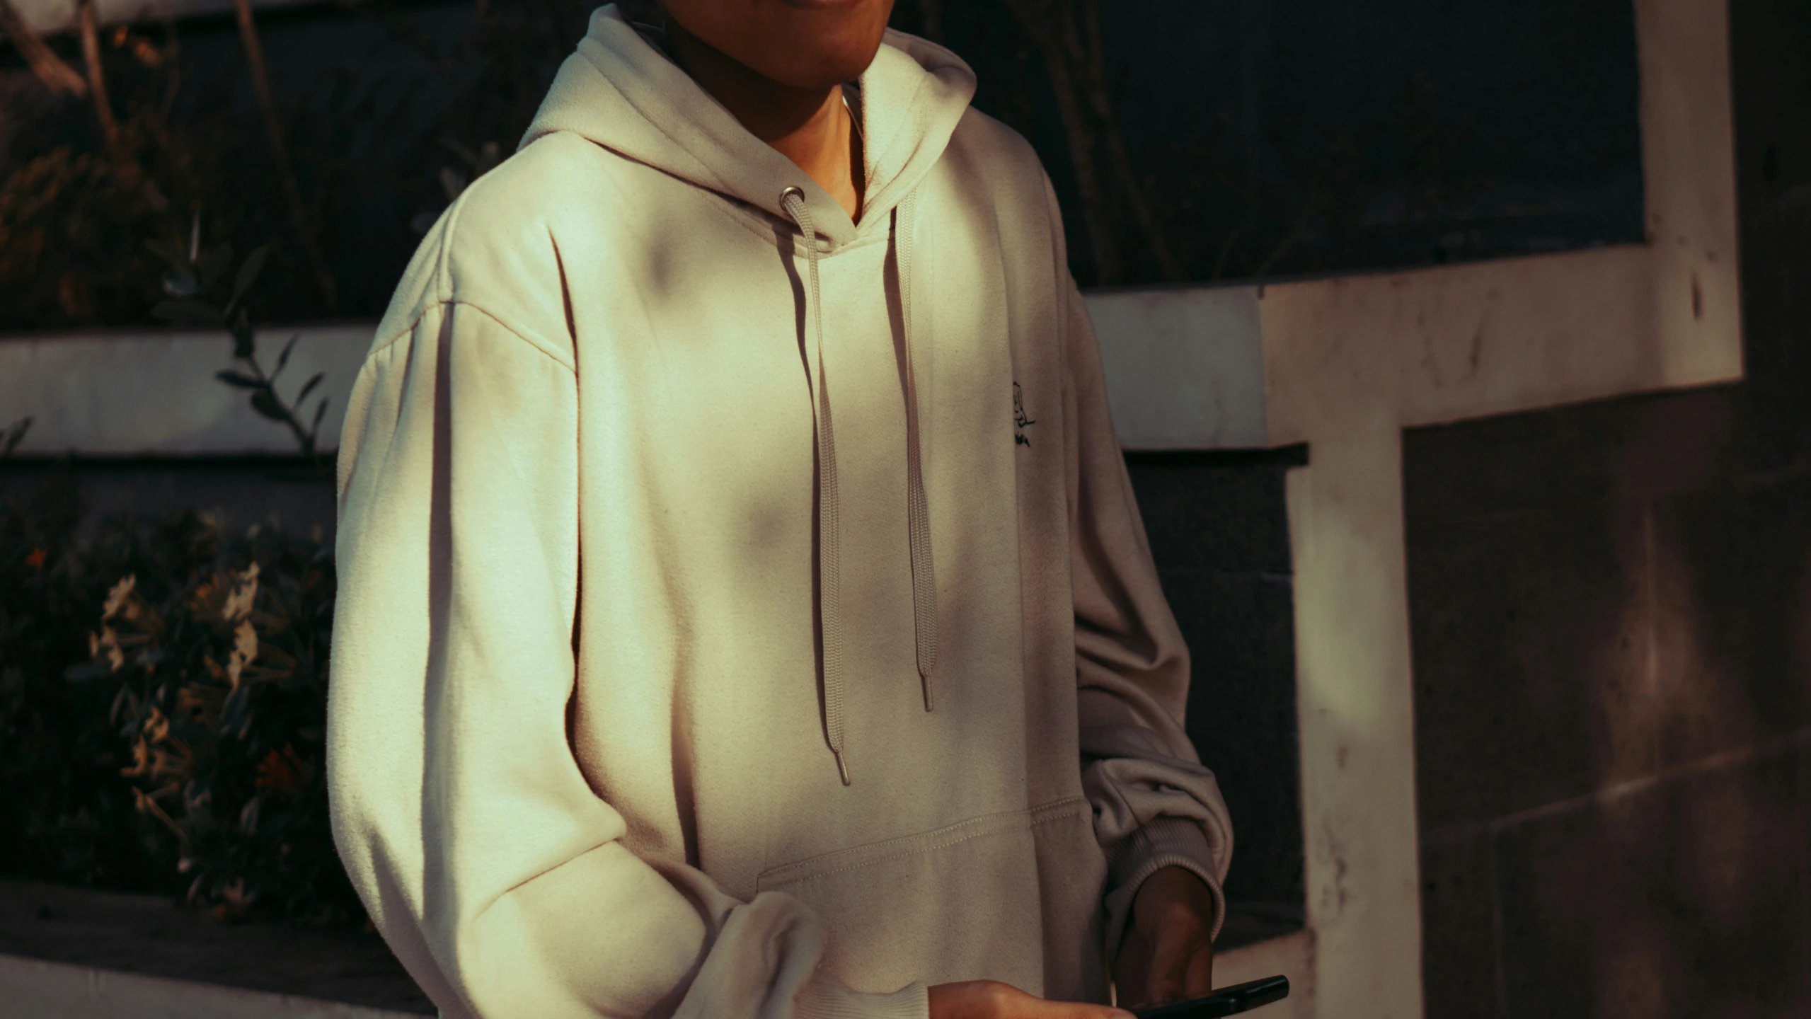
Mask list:
[[[886,224],[936,165],[974,96],[974,72],[947,49],[887,29],[860,76],[862,223]],[[820,244],[833,252],[858,228],[791,159],[748,132],[618,11],[599,7],[554,78],[522,147],[570,130],[612,152],[793,223],[781,194],[797,188]]]

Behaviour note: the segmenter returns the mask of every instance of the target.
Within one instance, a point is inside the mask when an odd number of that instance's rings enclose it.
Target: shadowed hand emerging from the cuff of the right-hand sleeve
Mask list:
[[[1183,867],[1161,867],[1132,900],[1114,985],[1126,1008],[1155,1008],[1213,990],[1213,892]],[[936,1015],[936,1012],[933,1012]]]

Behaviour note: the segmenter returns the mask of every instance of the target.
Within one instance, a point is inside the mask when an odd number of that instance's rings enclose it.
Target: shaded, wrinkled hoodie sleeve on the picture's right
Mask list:
[[[1164,601],[1125,454],[1107,407],[1088,310],[1067,286],[1063,357],[1070,576],[1083,791],[1107,852],[1107,950],[1119,950],[1132,898],[1159,867],[1193,871],[1213,892],[1213,936],[1226,919],[1221,880],[1233,852],[1231,818],[1181,719],[1188,648]]]

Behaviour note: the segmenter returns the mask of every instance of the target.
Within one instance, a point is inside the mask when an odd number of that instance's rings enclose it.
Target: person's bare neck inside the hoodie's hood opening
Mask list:
[[[842,205],[849,219],[862,212],[862,150],[842,103],[842,85],[797,89],[724,56],[668,20],[674,60],[750,134],[791,159]]]

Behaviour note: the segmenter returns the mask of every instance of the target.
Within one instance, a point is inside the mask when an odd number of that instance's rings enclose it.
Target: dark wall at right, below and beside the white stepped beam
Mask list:
[[[1436,1019],[1811,1012],[1811,7],[1731,63],[1748,380],[1404,442]]]

